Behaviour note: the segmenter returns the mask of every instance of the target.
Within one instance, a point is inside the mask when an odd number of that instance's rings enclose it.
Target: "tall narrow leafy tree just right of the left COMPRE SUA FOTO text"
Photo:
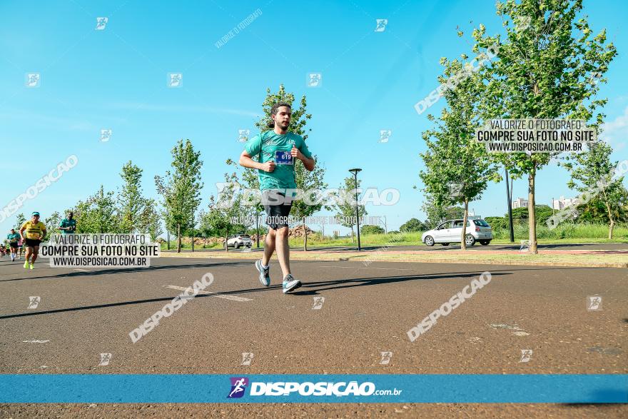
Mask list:
[[[163,216],[168,231],[177,233],[177,253],[181,252],[181,230],[194,221],[201,203],[201,152],[194,151],[190,140],[179,140],[172,149],[172,171],[166,176],[155,176],[155,186],[161,195]]]

